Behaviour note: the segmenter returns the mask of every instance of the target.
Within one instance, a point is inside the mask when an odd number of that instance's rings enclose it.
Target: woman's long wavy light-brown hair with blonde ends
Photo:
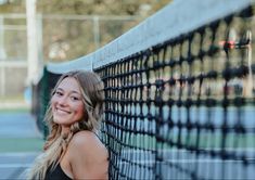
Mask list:
[[[73,77],[79,83],[85,104],[84,119],[74,123],[68,134],[61,134],[61,126],[53,121],[52,105],[49,103],[44,121],[50,129],[50,133],[46,140],[43,153],[36,158],[28,173],[28,179],[44,179],[47,169],[50,166],[55,168],[61,162],[71,139],[76,132],[81,130],[95,132],[100,128],[104,101],[103,82],[100,77],[92,72],[76,70],[66,73],[60,77],[51,95],[55,93],[56,88],[66,77]]]

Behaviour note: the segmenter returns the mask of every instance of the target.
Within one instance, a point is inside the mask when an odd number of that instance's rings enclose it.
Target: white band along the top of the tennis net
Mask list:
[[[75,69],[92,70],[241,11],[252,2],[255,0],[205,0],[200,2],[197,0],[175,0],[95,52],[64,63],[48,63],[46,66],[49,72],[55,74]]]

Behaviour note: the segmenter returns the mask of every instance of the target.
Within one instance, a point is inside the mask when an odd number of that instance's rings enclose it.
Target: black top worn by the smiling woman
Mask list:
[[[72,180],[72,179],[67,175],[65,175],[60,164],[58,164],[54,169],[51,169],[51,166],[47,169],[44,180]]]

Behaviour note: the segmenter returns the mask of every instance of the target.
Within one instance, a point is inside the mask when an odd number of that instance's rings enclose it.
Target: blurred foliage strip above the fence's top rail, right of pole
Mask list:
[[[38,0],[38,12],[49,14],[139,15],[153,13],[171,0]],[[150,5],[150,10],[141,9]]]

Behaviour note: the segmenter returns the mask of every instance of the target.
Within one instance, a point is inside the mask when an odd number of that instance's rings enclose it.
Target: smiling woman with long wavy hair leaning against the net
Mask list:
[[[109,153],[97,137],[103,83],[92,72],[64,74],[52,92],[50,134],[28,179],[107,179]]]

